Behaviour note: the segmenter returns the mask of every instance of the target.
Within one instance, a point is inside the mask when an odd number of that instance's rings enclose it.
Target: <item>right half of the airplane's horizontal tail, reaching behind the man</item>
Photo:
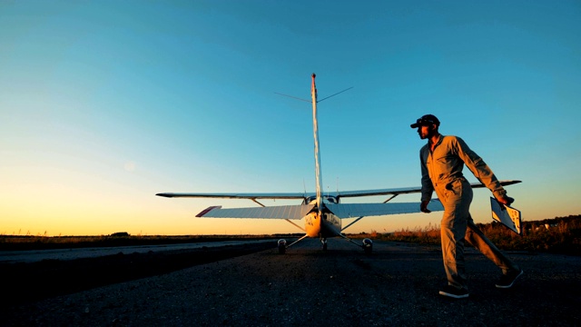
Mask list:
[[[419,203],[325,203],[331,213],[341,219],[362,216],[378,216],[399,213],[420,213]],[[443,211],[444,206],[439,200],[431,200],[428,204],[431,211]]]

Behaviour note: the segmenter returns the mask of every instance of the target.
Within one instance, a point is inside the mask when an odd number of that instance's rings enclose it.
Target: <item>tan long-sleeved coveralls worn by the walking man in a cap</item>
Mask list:
[[[462,174],[464,164],[492,193],[507,192],[478,154],[457,136],[440,135],[433,152],[430,144],[419,150],[421,162],[421,201],[429,201],[433,191],[444,205],[441,222],[442,257],[448,284],[468,290],[464,266],[464,241],[472,244],[494,262],[503,274],[519,268],[482,233],[469,213],[472,187]]]

